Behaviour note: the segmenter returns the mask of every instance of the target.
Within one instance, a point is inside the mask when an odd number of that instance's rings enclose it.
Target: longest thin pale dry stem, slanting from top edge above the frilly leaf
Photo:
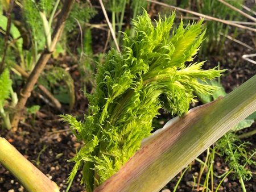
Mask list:
[[[200,16],[200,17],[202,17],[202,18],[209,19],[209,20],[214,20],[215,22],[220,22],[220,23],[228,24],[228,25],[230,25],[230,26],[242,28],[243,30],[250,30],[250,31],[256,32],[256,29],[255,29],[255,28],[251,28],[251,27],[247,27],[247,26],[242,26],[241,24],[229,22],[228,20],[223,20],[223,19],[214,18],[213,16],[200,14],[199,12],[195,12],[195,11],[185,10],[185,9],[180,8],[180,7],[175,7],[175,6],[168,5],[168,4],[166,4],[166,3],[162,3],[162,2],[158,2],[158,1],[153,1],[153,0],[146,0],[146,1],[147,1],[147,2],[151,2],[151,3],[156,3],[156,4],[162,5],[162,6],[164,6],[164,7],[169,7],[169,8],[171,8],[171,9],[175,9],[175,10],[178,10],[178,11],[181,11],[181,12],[188,12],[189,14],[197,15],[197,16]]]

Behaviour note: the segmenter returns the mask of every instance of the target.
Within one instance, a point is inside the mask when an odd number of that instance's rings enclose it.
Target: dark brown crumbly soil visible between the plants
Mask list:
[[[100,10],[98,15],[90,21],[90,23],[104,23],[104,18]],[[108,32],[93,28],[93,52],[100,53],[104,50]],[[244,43],[255,47],[253,44],[253,38],[255,36],[250,32],[240,34],[237,39]],[[108,45],[107,50],[110,49]],[[227,92],[232,91],[235,87],[241,85],[243,82],[254,76],[256,73],[256,65],[251,64],[242,59],[242,55],[250,54],[252,51],[238,45],[233,41],[226,40],[224,50],[221,55],[201,56],[200,60],[207,59],[208,62],[205,68],[212,68],[220,63],[221,69],[228,69],[224,76],[221,77],[221,83],[225,87]],[[55,60],[51,60],[49,65],[54,64]],[[61,64],[68,65],[72,68],[73,61],[71,57],[64,57],[61,59]],[[72,68],[70,73],[75,81],[76,89],[76,103],[72,111],[68,110],[68,105],[64,105],[62,111],[58,111],[55,108],[47,105],[37,97],[31,97],[27,103],[27,106],[40,105],[40,111],[36,116],[26,115],[26,117],[20,122],[17,131],[1,130],[1,136],[5,137],[11,144],[14,145],[20,153],[36,165],[44,174],[47,175],[52,181],[55,181],[60,187],[60,191],[67,189],[68,174],[72,170],[73,164],[67,160],[71,159],[76,154],[76,149],[79,149],[81,143],[73,136],[67,124],[60,121],[59,114],[72,114],[82,116],[86,112],[88,102],[82,94],[82,85],[80,80],[80,72],[78,68]],[[91,87],[89,87],[91,89]],[[196,104],[199,105],[200,103]],[[164,111],[160,111],[161,115],[158,117],[158,124],[161,127],[164,122],[169,120],[170,115]],[[248,132],[255,130],[256,123],[250,128],[243,130],[242,132]],[[240,134],[242,133],[240,132]],[[246,141],[250,141],[250,149],[256,148],[256,135],[246,138]],[[206,153],[199,156],[201,160],[204,160]],[[192,168],[187,171],[177,187],[177,191],[192,191],[193,177],[198,177],[200,172],[200,164],[197,161],[191,163]],[[250,181],[245,181],[245,187],[247,191],[256,191],[256,168],[250,167],[253,172],[253,178]],[[228,165],[222,157],[217,156],[214,159],[214,172],[221,175],[228,170]],[[181,174],[181,173],[180,173]],[[180,178],[178,174],[170,183],[168,183],[162,191],[172,191]],[[205,174],[201,181],[204,181]],[[214,178],[214,187],[218,185],[221,179]],[[69,191],[85,191],[84,186],[80,185],[81,173],[78,173],[75,180],[72,183]],[[210,184],[210,183],[209,183]],[[195,187],[193,191],[202,191],[202,187]],[[0,191],[26,191],[18,183],[18,181],[0,165]],[[242,191],[240,182],[232,177],[232,174],[224,180],[220,187],[220,191]]]

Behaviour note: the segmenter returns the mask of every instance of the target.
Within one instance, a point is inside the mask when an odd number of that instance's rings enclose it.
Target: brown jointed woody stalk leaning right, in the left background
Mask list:
[[[60,35],[62,34],[65,20],[68,18],[69,12],[71,11],[74,1],[75,0],[66,0],[64,2],[60,16],[56,23],[55,30],[53,31],[51,47],[49,48],[49,50],[44,50],[38,62],[36,63],[35,68],[32,70],[30,76],[28,77],[27,84],[23,87],[22,91],[20,91],[19,102],[15,107],[15,112],[11,122],[11,126],[13,128],[18,127],[20,111],[26,105],[27,99],[30,97],[31,91],[34,89],[34,85],[36,84],[36,81],[38,81],[40,73],[43,71],[44,66],[46,66],[47,61],[51,57],[51,53],[55,49],[57,41],[59,40]]]

